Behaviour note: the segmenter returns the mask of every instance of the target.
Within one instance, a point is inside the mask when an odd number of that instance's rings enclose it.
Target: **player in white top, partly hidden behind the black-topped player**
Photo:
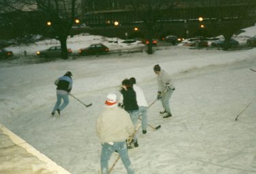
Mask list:
[[[141,89],[141,87],[138,87],[136,85],[136,79],[134,77],[130,78],[130,82],[132,83],[132,87],[134,91],[136,92],[136,99],[137,99],[137,104],[139,106],[139,114],[141,114],[141,119],[142,119],[142,133],[146,134],[147,133],[147,100],[145,98],[144,92]]]

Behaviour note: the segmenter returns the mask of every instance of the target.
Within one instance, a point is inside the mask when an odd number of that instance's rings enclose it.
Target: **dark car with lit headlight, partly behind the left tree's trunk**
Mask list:
[[[68,54],[71,54],[72,50],[68,48]],[[51,46],[46,50],[38,50],[36,55],[40,57],[61,57],[61,46]]]

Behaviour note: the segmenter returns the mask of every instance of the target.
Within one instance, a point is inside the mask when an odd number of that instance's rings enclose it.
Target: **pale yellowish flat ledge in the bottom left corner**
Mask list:
[[[0,124],[0,173],[71,174]]]

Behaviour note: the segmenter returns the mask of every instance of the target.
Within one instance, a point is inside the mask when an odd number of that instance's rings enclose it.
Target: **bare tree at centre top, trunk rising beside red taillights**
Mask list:
[[[175,8],[179,1],[172,0],[129,0],[130,5],[136,12],[137,16],[143,20],[143,24],[148,30],[147,39],[149,44],[147,45],[147,53],[153,54],[152,38],[154,35],[154,26],[156,21],[161,18],[165,10],[171,11]]]

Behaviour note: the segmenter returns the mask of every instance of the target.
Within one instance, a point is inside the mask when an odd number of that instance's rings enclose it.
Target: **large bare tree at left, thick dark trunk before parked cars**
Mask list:
[[[44,23],[44,35],[59,40],[61,58],[68,59],[67,39],[78,16],[79,3],[76,0],[1,0],[5,11],[36,10],[42,14],[38,23]],[[48,25],[46,25],[46,22]]]

